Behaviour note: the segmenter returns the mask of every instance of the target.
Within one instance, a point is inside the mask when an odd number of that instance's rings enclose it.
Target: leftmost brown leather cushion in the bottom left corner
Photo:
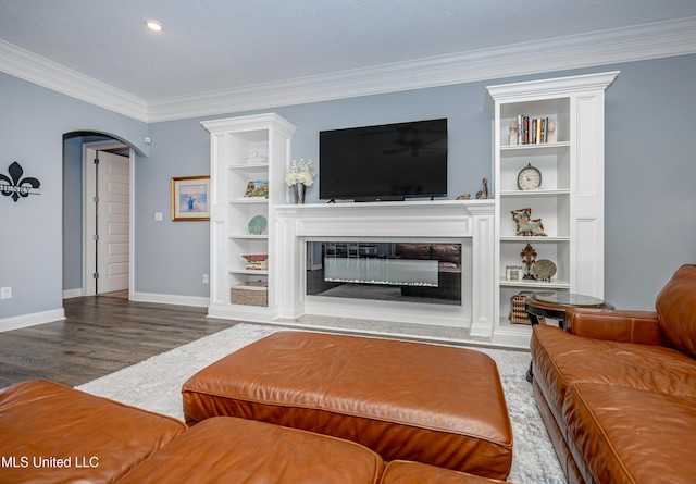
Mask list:
[[[0,482],[114,482],[185,430],[58,383],[20,383],[0,390]]]

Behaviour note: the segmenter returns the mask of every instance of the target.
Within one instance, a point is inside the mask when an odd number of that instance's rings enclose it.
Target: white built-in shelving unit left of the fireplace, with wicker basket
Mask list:
[[[211,136],[211,260],[209,315],[269,321],[277,312],[275,204],[285,203],[285,173],[295,126],[274,113],[206,121]],[[268,196],[245,196],[250,182],[268,182]],[[254,218],[266,227],[249,229]],[[268,255],[268,269],[247,269],[245,255]],[[231,288],[268,286],[263,307],[233,303]]]

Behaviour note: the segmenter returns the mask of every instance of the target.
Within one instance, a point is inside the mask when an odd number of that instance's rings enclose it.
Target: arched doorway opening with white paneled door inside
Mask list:
[[[130,298],[135,151],[92,132],[67,134],[63,145],[63,297]]]

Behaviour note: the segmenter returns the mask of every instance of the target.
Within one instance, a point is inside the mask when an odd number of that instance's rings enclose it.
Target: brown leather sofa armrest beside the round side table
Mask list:
[[[666,346],[660,322],[652,311],[569,308],[566,331],[586,338]]]

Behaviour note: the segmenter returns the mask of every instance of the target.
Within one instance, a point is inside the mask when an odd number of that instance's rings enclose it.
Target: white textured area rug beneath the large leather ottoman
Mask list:
[[[181,388],[210,363],[281,328],[237,324],[133,367],[94,380],[78,389],[153,412],[184,419]],[[566,477],[524,375],[530,355],[522,351],[472,348],[498,365],[512,421],[514,446],[508,481],[519,484],[563,484]]]

